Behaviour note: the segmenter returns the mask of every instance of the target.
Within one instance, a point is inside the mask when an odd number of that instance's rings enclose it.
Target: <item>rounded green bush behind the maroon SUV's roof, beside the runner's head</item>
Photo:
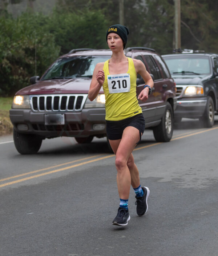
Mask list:
[[[101,11],[84,11],[80,14],[54,11],[49,17],[49,31],[61,46],[61,54],[74,48],[102,49],[106,44],[106,20]]]

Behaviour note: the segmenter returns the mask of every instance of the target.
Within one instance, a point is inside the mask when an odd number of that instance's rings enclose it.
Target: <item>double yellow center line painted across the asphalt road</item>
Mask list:
[[[214,127],[214,128],[207,129],[207,130],[198,131],[197,133],[192,133],[192,134],[180,136],[180,137],[178,137],[178,138],[171,139],[171,141],[174,141],[174,140],[177,140],[177,139],[186,138],[186,137],[193,136],[193,135],[197,135],[197,134],[201,134],[201,133],[205,133],[205,132],[207,132],[207,131],[212,131],[212,130],[215,130],[215,129],[218,129],[218,126],[217,126],[217,127]],[[147,147],[152,147],[152,146],[160,145],[160,144],[162,144],[162,143],[163,143],[163,142],[157,142],[157,143],[153,143],[153,144],[150,144],[150,145],[138,147],[138,148],[134,149],[133,151],[140,150],[140,149],[145,149],[145,148],[147,148]],[[101,154],[101,155],[102,155],[102,154]],[[97,156],[99,156],[99,155],[95,155],[95,156],[93,156],[93,157],[97,157]],[[50,172],[45,172],[45,173],[40,173],[40,174],[37,174],[37,175],[34,175],[34,176],[29,176],[29,177],[26,177],[26,178],[23,178],[23,179],[20,179],[20,180],[15,180],[15,181],[7,182],[7,183],[4,183],[4,184],[1,184],[1,185],[0,185],[0,188],[2,188],[2,187],[4,187],[4,186],[16,184],[16,183],[19,183],[19,182],[31,180],[31,179],[34,179],[34,178],[37,178],[37,177],[45,176],[45,175],[48,175],[48,174],[61,172],[61,171],[68,170],[68,169],[70,169],[70,168],[75,168],[75,167],[78,167],[78,166],[81,166],[81,165],[86,165],[86,164],[90,164],[90,163],[93,163],[93,162],[96,162],[96,161],[101,161],[101,160],[103,160],[103,159],[110,158],[110,157],[115,157],[115,155],[114,155],[114,154],[106,155],[106,156],[104,156],[104,157],[96,158],[96,159],[89,160],[89,161],[86,161],[86,162],[82,162],[82,163],[79,163],[79,164],[76,164],[76,165],[71,165],[71,166],[67,166],[67,167],[65,167],[65,168],[60,168],[60,169],[53,170],[53,171],[50,171]],[[24,175],[27,175],[27,174],[36,173],[36,172],[41,172],[42,170],[52,169],[52,168],[55,168],[55,167],[58,167],[58,166],[61,166],[61,165],[71,164],[71,163],[73,163],[73,162],[82,161],[82,160],[86,160],[86,159],[89,159],[89,158],[92,158],[92,157],[82,158],[82,159],[74,160],[74,161],[72,161],[72,162],[68,162],[68,163],[65,163],[65,164],[60,164],[60,165],[56,165],[56,166],[51,166],[51,167],[48,167],[48,168],[36,170],[36,171],[33,171],[33,172],[29,172],[29,173],[19,174],[19,175],[17,175],[17,176],[8,177],[8,178],[2,179],[2,180],[0,180],[0,181],[9,180],[9,179],[11,179],[11,178],[16,178],[16,177],[24,176]]]

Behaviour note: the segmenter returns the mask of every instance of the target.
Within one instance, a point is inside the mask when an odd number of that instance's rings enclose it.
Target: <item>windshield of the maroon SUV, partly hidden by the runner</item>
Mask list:
[[[111,56],[74,56],[58,59],[41,80],[57,78],[91,77],[98,62],[105,62]]]

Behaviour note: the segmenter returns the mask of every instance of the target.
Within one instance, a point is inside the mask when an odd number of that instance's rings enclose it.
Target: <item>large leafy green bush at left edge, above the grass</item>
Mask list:
[[[43,15],[29,13],[17,19],[0,17],[1,96],[12,96],[28,86],[29,78],[36,71],[42,75],[59,55],[55,37],[43,29],[45,20]]]

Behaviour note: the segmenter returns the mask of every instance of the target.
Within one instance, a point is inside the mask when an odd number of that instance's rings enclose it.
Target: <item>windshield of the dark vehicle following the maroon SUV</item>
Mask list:
[[[163,56],[171,75],[210,74],[210,62],[207,56]]]

